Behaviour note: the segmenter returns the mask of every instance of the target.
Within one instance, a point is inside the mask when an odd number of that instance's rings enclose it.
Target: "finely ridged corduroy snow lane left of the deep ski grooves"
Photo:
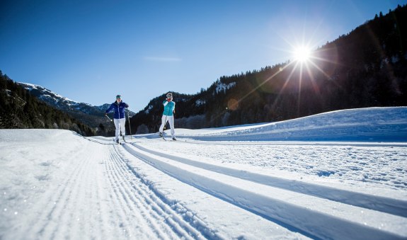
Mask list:
[[[79,149],[72,157],[80,164],[58,188],[45,190],[30,211],[31,223],[15,226],[23,231],[4,239],[98,239],[113,232],[119,233],[115,239],[205,239],[128,168],[122,145],[98,146]]]

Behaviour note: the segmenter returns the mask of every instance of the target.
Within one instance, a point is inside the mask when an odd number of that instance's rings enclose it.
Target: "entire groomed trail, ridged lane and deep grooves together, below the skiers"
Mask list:
[[[407,238],[403,199],[195,161],[139,139],[73,138],[80,147],[70,150],[69,168],[55,168],[59,184],[41,190],[25,224],[0,239]]]

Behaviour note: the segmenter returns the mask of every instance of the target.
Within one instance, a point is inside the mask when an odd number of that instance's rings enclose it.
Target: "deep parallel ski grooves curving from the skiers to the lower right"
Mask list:
[[[155,168],[154,171],[166,173],[172,178],[171,181],[181,181],[188,187],[209,194],[210,198],[218,198],[224,204],[251,212],[269,221],[270,224],[280,225],[284,231],[300,234],[293,238],[405,239],[407,237],[405,229],[407,201],[405,200],[353,193],[323,185],[213,166],[140,147],[137,142],[115,146],[113,149],[117,152],[117,157],[114,159],[117,166],[120,166],[123,172],[127,171],[130,175],[137,176],[147,185],[149,180],[137,173],[139,164],[148,164]],[[161,195],[159,188],[150,186],[150,190],[153,190],[157,196]],[[156,197],[157,200],[160,198],[164,200],[164,205],[172,205],[169,208],[177,210],[176,205],[166,199],[165,195]],[[193,212],[193,210],[190,211]],[[211,212],[207,214],[210,215]],[[195,217],[199,219],[200,216]],[[372,219],[397,222],[398,226],[388,227],[386,224],[377,224]],[[217,229],[208,228],[207,226],[210,226],[208,224],[196,224],[200,221],[188,219],[188,217],[185,219],[185,215],[178,217],[175,222],[179,224],[182,221],[186,222],[180,224],[181,229],[185,229],[186,226],[195,229],[193,238],[231,237],[217,232]]]

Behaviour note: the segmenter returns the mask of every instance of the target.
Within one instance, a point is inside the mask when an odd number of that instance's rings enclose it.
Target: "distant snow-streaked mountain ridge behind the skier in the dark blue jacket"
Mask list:
[[[79,103],[39,85],[27,83],[18,84],[48,105],[63,110],[91,127],[99,127],[101,123],[110,126],[110,128],[113,127],[111,124],[109,125],[108,119],[104,117],[105,110],[110,106],[110,103],[98,106],[88,103]],[[129,111],[130,117],[134,114],[132,111]]]

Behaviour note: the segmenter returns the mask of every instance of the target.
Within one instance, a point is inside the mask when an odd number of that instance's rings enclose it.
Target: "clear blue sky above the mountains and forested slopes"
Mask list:
[[[2,0],[0,70],[74,101],[134,112],[168,91],[292,58],[407,0]]]

